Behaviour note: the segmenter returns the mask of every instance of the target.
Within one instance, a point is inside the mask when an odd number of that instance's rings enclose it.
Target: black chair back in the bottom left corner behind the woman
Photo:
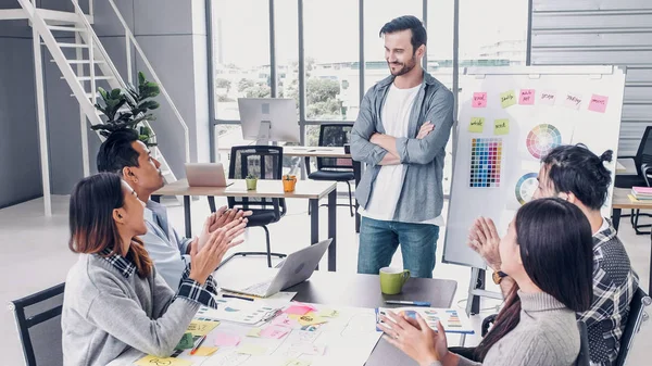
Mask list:
[[[61,310],[64,286],[60,283],[9,304],[16,318],[27,366],[63,365]]]

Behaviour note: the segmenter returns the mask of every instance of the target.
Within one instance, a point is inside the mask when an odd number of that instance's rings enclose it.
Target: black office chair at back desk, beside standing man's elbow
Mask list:
[[[353,124],[325,124],[319,127],[321,147],[343,147],[351,142],[351,129]],[[317,157],[317,172],[310,172],[310,157],[305,157],[305,171],[308,178],[313,180],[343,181],[349,186],[349,209],[351,217],[353,213],[353,193],[351,180],[355,180],[353,173],[353,160],[336,157]],[[343,206],[344,204],[338,204]],[[309,205],[310,214],[310,205]]]

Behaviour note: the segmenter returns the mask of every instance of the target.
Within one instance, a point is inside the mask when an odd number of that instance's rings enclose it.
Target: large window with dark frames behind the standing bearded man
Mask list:
[[[293,98],[303,111],[298,115],[306,146],[317,144],[322,123],[353,123],[362,94],[389,75],[379,30],[401,15],[426,20],[427,71],[451,90],[461,81],[454,79],[456,68],[526,62],[526,0],[212,0],[211,8],[214,132],[223,161],[230,146],[253,143],[241,138],[236,101],[240,97]],[[459,84],[455,96],[463,87]],[[286,169],[297,172],[297,162],[288,162]],[[447,147],[444,192],[451,168],[452,139]]]

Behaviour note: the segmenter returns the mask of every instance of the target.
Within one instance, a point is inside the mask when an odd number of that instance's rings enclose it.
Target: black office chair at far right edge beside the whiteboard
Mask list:
[[[618,159],[631,159],[636,166],[636,175],[634,174],[618,174],[616,175],[615,187],[631,189],[631,187],[650,187],[652,181],[652,126],[645,127],[643,138],[639,144],[638,151],[635,156],[618,156]],[[652,217],[651,214],[641,214],[640,210],[631,210],[630,215],[623,215],[623,217],[629,216],[631,226],[636,234],[650,234],[650,231],[642,231],[641,228],[652,227],[651,224],[639,225],[639,216]]]

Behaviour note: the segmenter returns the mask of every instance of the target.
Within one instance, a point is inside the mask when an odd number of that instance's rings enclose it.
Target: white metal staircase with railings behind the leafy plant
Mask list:
[[[125,89],[127,84],[117,72],[115,65],[111,61],[111,58],[102,47],[98,36],[92,29],[90,24],[92,16],[89,14],[85,14],[77,3],[77,0],[71,0],[73,5],[75,7],[74,13],[68,12],[57,12],[51,10],[38,9],[35,8],[34,3],[30,0],[17,0],[24,12],[26,13],[26,18],[30,21],[30,25],[33,27],[33,34],[35,38],[40,37],[42,39],[42,45],[45,45],[50,54],[52,55],[52,60],[50,62],[57,63],[59,70],[61,71],[61,78],[66,80],[67,85],[72,90],[73,97],[75,97],[79,103],[80,111],[80,128],[82,128],[82,150],[84,155],[84,175],[89,175],[89,154],[88,154],[88,140],[87,140],[87,131],[89,126],[86,121],[88,121],[91,125],[98,125],[103,123],[101,115],[95,104],[99,97],[97,90],[98,86],[104,87],[106,90],[121,88]],[[127,79],[133,80],[131,78],[131,55],[130,49],[134,47],[136,51],[139,53],[143,64],[147,66],[147,73],[151,75],[151,78],[159,85],[161,89],[161,94],[164,99],[170,103],[172,110],[178,119],[179,125],[183,127],[185,131],[185,142],[186,142],[186,162],[190,161],[190,147],[189,147],[189,134],[188,127],[180,116],[178,110],[174,105],[170,94],[161,84],[161,80],[156,76],[155,72],[151,67],[148,62],[145,53],[142,52],[140,46],[136,41],[136,38],[131,34],[128,28],[126,22],[120,14],[117,7],[113,2],[113,0],[101,0],[108,1],[115,15],[118,17],[121,23],[123,24],[125,30],[125,41],[126,41],[126,50],[127,50]],[[90,8],[92,9],[92,0],[90,0]],[[65,38],[65,40],[58,40],[58,37]],[[74,42],[71,41],[71,37],[74,37]],[[39,41],[35,39],[36,42]],[[40,41],[39,41],[40,42]],[[38,53],[38,54],[37,54]],[[37,74],[39,74],[39,68],[41,67],[40,61],[36,61],[36,59],[40,59],[40,50],[37,50],[35,46],[35,68]],[[42,71],[40,71],[42,73]],[[42,102],[43,100],[43,89],[42,83],[38,79],[42,77],[42,75],[37,75],[37,101]],[[98,85],[100,84],[100,85]],[[128,93],[125,93],[127,98],[131,98]],[[39,100],[40,99],[40,100]],[[40,103],[39,103],[40,104]],[[42,109],[42,108],[41,108]],[[41,111],[42,112],[42,111]],[[39,119],[45,119],[45,112],[39,113]],[[155,136],[154,129],[150,126],[149,122],[143,121],[142,125],[149,127],[152,130],[153,136]],[[43,129],[45,129],[45,121],[39,121],[39,129],[41,134],[41,165],[43,160]],[[98,136],[99,132],[98,132]],[[103,139],[100,136],[100,139]],[[155,138],[154,138],[155,141]],[[152,147],[152,155],[161,162],[161,171],[163,173],[164,179],[166,182],[176,181],[176,177],[170,165],[165,161],[163,154],[160,149]],[[47,149],[46,152],[47,154]],[[45,155],[47,157],[47,155]],[[47,163],[43,168],[43,177],[49,176]],[[49,178],[43,178],[49,179]],[[46,193],[46,188],[48,193]],[[49,181],[46,185],[43,181],[43,195],[47,200],[49,200]],[[46,203],[46,213],[49,211],[49,203]]]

